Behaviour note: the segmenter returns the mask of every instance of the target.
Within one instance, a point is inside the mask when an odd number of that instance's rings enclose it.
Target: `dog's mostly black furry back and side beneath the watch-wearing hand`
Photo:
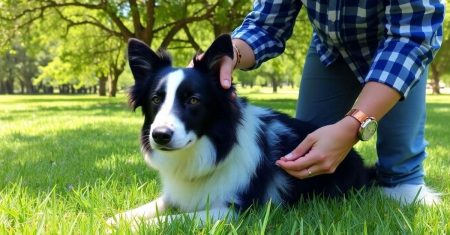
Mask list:
[[[254,110],[250,115],[255,115],[255,119],[259,120],[255,142],[248,147],[260,149],[261,159],[251,175],[248,189],[239,192],[239,207],[247,208],[252,203],[268,200],[292,204],[311,196],[339,197],[351,189],[361,189],[373,183],[374,168],[365,167],[354,150],[332,174],[307,179],[297,179],[287,174],[275,165],[275,161],[291,152],[316,127],[273,110],[248,106],[251,107],[248,110]],[[244,120],[241,128],[251,125]]]

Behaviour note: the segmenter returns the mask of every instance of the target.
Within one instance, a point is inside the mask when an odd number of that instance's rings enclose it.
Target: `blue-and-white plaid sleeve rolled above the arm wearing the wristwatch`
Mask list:
[[[386,84],[407,97],[442,44],[444,3],[392,0],[386,7],[386,36],[365,81]]]

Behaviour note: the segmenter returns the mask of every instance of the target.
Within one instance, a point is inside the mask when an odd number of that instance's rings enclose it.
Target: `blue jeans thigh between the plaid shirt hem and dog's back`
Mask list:
[[[316,126],[335,123],[350,110],[361,88],[343,59],[325,67],[315,49],[310,47],[303,68],[296,117]]]

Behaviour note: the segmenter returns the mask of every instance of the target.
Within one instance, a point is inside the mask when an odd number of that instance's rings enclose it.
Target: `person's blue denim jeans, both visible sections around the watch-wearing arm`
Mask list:
[[[384,186],[424,183],[427,142],[425,86],[428,72],[379,122],[378,182]],[[325,67],[310,47],[300,84],[296,117],[317,126],[335,123],[351,109],[362,85],[342,58]]]

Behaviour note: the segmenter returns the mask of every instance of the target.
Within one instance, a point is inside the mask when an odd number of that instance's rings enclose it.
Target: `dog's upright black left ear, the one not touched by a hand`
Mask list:
[[[128,62],[134,77],[134,86],[129,90],[128,103],[136,110],[142,106],[147,86],[152,82],[154,74],[171,66],[169,54],[159,50],[153,52],[144,42],[137,39],[128,41]]]

